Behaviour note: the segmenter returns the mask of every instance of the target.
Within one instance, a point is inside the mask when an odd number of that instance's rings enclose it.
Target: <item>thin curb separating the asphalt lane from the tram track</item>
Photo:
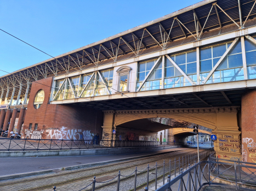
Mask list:
[[[179,148],[179,147],[176,147],[176,148]],[[189,149],[191,149],[191,148],[185,148],[184,150],[189,150]],[[177,150],[166,151],[166,152],[156,153],[156,154],[147,154],[147,155],[144,155],[144,156],[128,157],[128,158],[122,158],[122,159],[116,159],[116,160],[107,160],[107,161],[98,162],[98,163],[89,163],[89,164],[82,164],[82,165],[75,165],[75,166],[67,166],[67,167],[58,168],[58,169],[41,170],[41,171],[34,171],[34,172],[24,172],[24,173],[13,174],[13,175],[5,175],[5,176],[0,176],[0,181],[12,179],[12,178],[21,178],[21,177],[26,177],[26,176],[48,174],[50,172],[53,172],[53,170],[63,170],[63,169],[64,170],[73,170],[73,169],[80,169],[80,168],[85,168],[85,167],[89,167],[89,166],[103,165],[103,164],[107,164],[107,163],[122,162],[124,160],[131,160],[131,159],[138,159],[138,158],[141,158],[141,157],[156,156],[156,155],[159,155],[159,154],[171,153],[171,152],[175,152],[175,151],[177,151]],[[183,150],[179,150],[179,151],[183,151]]]

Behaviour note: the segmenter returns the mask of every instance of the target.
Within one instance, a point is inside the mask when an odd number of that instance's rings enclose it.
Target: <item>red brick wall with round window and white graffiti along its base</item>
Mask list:
[[[30,139],[86,139],[99,134],[101,138],[103,112],[72,104],[49,104],[52,81],[53,77],[48,77],[36,81],[38,83],[32,83],[22,137]],[[44,90],[44,102],[39,109],[35,109],[33,101],[40,89]],[[28,132],[27,128],[29,128],[30,123],[32,123],[32,131]],[[38,123],[37,131],[33,130],[35,123]]]

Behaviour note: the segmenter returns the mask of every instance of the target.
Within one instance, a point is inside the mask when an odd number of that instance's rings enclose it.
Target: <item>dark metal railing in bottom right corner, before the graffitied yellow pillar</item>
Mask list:
[[[225,162],[220,162],[224,160]],[[221,166],[221,168],[220,168]],[[166,184],[156,191],[191,191],[200,190],[204,185],[231,185],[235,190],[255,190],[256,188],[256,165],[255,163],[241,162],[239,160],[218,159],[210,155],[208,161],[202,161],[189,169],[180,169],[180,175],[173,179],[168,176]],[[226,182],[219,183],[219,182]],[[250,188],[251,187],[251,188]],[[225,188],[223,188],[224,190]],[[148,190],[148,187],[145,188]]]

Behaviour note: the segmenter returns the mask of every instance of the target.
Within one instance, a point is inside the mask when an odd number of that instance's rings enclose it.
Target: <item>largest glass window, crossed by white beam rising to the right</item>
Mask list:
[[[229,48],[232,41],[220,45],[200,49],[200,80],[206,79],[209,71],[218,63],[221,56]],[[243,61],[241,41],[231,49],[224,60],[219,64],[213,75],[206,83],[219,83],[243,80]]]

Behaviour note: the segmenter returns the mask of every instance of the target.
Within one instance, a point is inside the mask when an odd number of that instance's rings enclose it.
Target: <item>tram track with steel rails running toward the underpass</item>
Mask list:
[[[189,151],[187,151],[189,150]],[[127,161],[123,162],[114,162],[110,164],[105,164],[105,165],[98,165],[98,166],[93,166],[91,168],[86,168],[86,169],[81,169],[81,170],[72,170],[72,171],[63,171],[60,173],[54,173],[54,174],[44,174],[44,175],[37,175],[36,177],[24,177],[24,178],[16,178],[16,180],[10,181],[0,181],[0,187],[15,187],[15,185],[19,184],[25,184],[29,186],[29,188],[24,187],[24,189],[19,189],[19,190],[43,190],[43,189],[50,189],[53,186],[61,187],[65,186],[70,183],[78,183],[83,180],[92,180],[93,176],[103,176],[104,174],[117,174],[118,170],[124,171],[127,169],[131,169],[132,167],[135,167],[135,165],[145,165],[148,163],[156,162],[158,160],[163,160],[164,158],[174,158],[174,157],[179,157],[179,156],[184,156],[185,154],[191,154],[195,153],[196,149],[195,148],[188,148],[186,150],[180,150],[180,151],[175,151],[175,152],[170,152],[170,153],[164,153],[164,154],[158,154],[155,156],[150,156],[150,157],[141,157],[139,159],[128,159]],[[113,166],[116,166],[116,168],[112,168]],[[145,165],[146,166],[146,165]],[[93,172],[92,172],[93,171]],[[127,177],[125,180],[127,180],[130,177]],[[56,182],[53,182],[52,180],[58,180]],[[124,178],[122,178],[124,180]],[[43,185],[37,184],[36,182],[41,181],[45,182]],[[35,186],[33,186],[33,182],[35,182]],[[111,184],[113,184],[112,182]],[[80,184],[81,188],[83,187],[84,184]],[[106,186],[105,186],[106,187]],[[99,188],[97,188],[99,189]],[[8,189],[9,190],[9,189]],[[73,190],[73,189],[72,189]]]

